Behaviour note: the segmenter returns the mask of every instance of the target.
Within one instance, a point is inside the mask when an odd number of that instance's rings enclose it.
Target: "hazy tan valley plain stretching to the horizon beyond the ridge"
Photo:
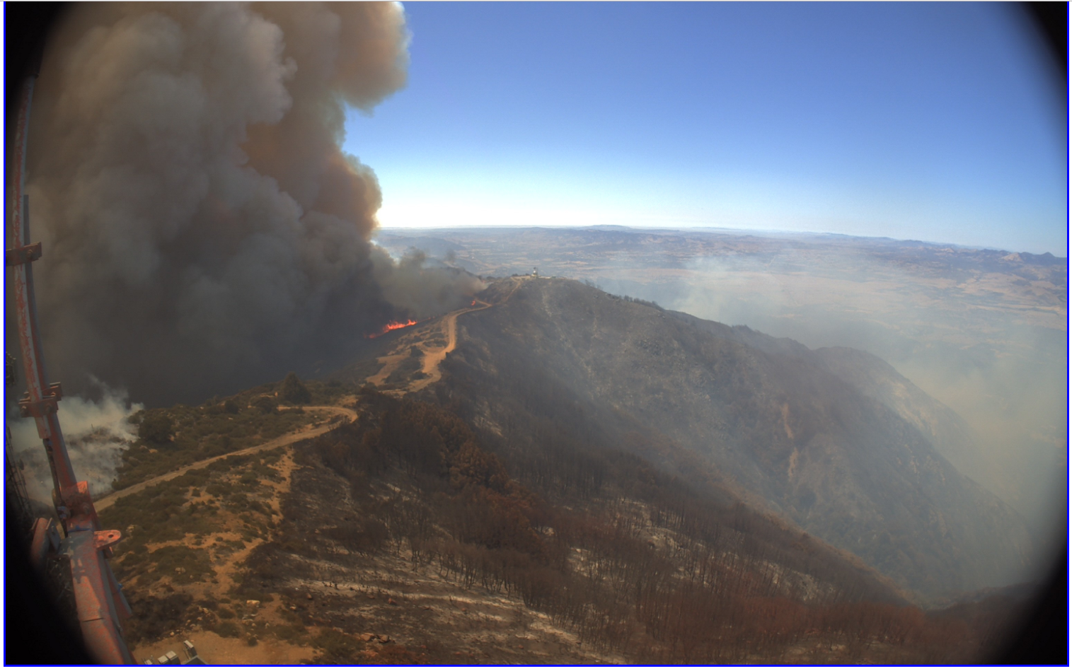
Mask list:
[[[384,230],[378,239],[392,249],[450,250],[480,274],[538,266],[808,347],[877,355],[966,422],[935,439],[939,451],[1021,512],[1043,545],[1055,530],[1063,543],[1064,258],[883,238],[616,226]],[[944,413],[935,411],[921,427],[941,423]]]

